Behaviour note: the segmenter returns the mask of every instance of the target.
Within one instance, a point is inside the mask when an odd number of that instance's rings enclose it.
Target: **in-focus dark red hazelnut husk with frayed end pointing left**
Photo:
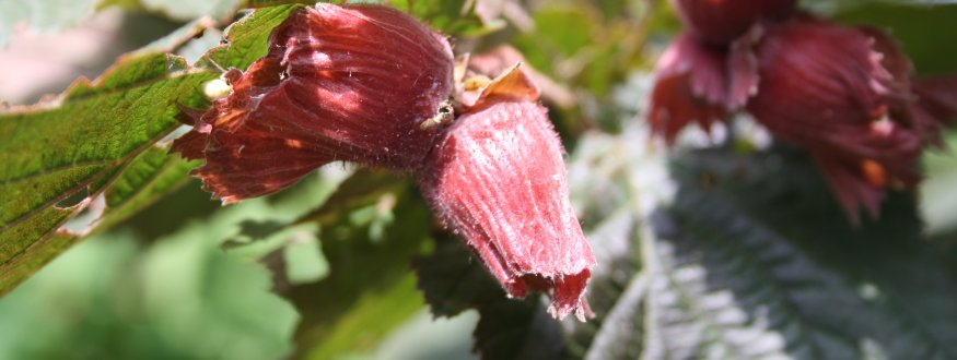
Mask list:
[[[174,151],[224,203],[279,191],[345,160],[413,170],[452,93],[446,39],[383,5],[318,3],[293,12],[269,53],[194,119]]]

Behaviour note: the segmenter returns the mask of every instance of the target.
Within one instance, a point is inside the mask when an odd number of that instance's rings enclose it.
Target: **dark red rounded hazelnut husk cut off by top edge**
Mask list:
[[[763,19],[792,14],[797,0],[672,0],[672,4],[697,37],[725,45]]]

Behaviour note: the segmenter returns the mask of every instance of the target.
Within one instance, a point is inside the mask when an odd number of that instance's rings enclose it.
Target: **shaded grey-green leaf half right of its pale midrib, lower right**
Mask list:
[[[649,333],[666,353],[957,356],[957,287],[912,196],[855,229],[803,154],[698,152],[676,167],[681,187],[650,245]]]

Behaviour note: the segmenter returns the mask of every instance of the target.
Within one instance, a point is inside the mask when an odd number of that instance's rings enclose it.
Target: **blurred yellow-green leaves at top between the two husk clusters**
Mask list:
[[[537,9],[534,28],[511,39],[528,64],[575,94],[552,111],[567,145],[572,147],[595,122],[602,130],[619,132],[620,122],[633,121],[616,112],[608,95],[629,71],[653,64],[644,53],[655,26],[647,20],[666,17],[652,15],[669,9],[666,2],[563,2]],[[548,87],[544,89],[548,95]]]

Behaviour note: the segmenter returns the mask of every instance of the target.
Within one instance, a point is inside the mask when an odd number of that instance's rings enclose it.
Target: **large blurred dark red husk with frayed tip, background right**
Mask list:
[[[755,53],[759,91],[747,109],[812,154],[852,220],[860,206],[876,217],[886,188],[917,184],[921,148],[940,129],[930,123],[947,115],[917,122],[911,67],[888,37],[797,17],[769,26]]]

